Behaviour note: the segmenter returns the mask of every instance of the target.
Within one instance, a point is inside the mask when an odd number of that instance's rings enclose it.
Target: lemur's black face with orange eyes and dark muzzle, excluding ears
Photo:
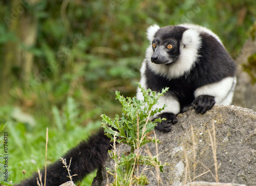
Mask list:
[[[156,64],[172,64],[179,59],[180,41],[185,31],[181,27],[163,27],[159,29],[152,41],[154,51],[151,61]]]

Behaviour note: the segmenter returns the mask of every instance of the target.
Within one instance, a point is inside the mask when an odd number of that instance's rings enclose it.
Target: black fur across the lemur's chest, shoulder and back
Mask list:
[[[146,64],[146,85],[153,91],[161,91],[169,87],[167,94],[174,96],[180,103],[181,108],[191,104],[194,100],[194,91],[206,84],[218,82],[225,77],[233,77],[236,64],[223,46],[212,36],[202,35],[202,47],[199,51],[198,62],[194,68],[183,76],[168,80],[151,71]],[[212,49],[214,45],[214,49]],[[166,68],[172,67],[167,64]]]

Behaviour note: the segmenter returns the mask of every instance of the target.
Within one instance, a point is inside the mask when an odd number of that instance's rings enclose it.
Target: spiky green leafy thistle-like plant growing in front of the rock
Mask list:
[[[134,98],[124,98],[120,96],[120,92],[116,91],[116,99],[122,104],[121,117],[116,117],[111,120],[105,114],[102,114],[102,127],[105,134],[114,142],[114,151],[110,151],[111,157],[115,160],[115,181],[112,185],[145,185],[147,178],[143,173],[135,176],[135,166],[148,165],[154,166],[163,172],[163,165],[157,160],[156,157],[143,156],[139,152],[139,148],[147,143],[159,143],[155,137],[150,137],[150,132],[154,129],[157,122],[164,119],[156,119],[150,121],[150,116],[160,112],[163,108],[153,108],[160,96],[167,91],[167,88],[162,92],[154,92],[150,89],[145,90],[141,85],[141,92],[144,100]],[[122,153],[118,157],[115,151],[115,143],[123,143],[131,147],[131,151],[126,154]],[[138,172],[138,171],[137,171]]]

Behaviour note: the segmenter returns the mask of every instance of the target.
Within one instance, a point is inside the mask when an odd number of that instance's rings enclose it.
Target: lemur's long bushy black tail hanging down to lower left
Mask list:
[[[111,149],[110,138],[104,135],[103,129],[100,129],[100,131],[92,135],[87,142],[80,142],[79,145],[66,153],[63,158],[66,158],[68,165],[70,158],[72,158],[70,175],[77,175],[72,177],[73,181],[77,182],[82,180],[84,176],[101,167],[109,149]],[[40,172],[44,185],[45,169],[40,170]],[[68,171],[66,168],[63,168],[62,162],[57,160],[47,167],[46,185],[58,186],[70,181],[70,178],[67,177],[68,175]],[[37,185],[37,177],[38,173],[34,173],[32,177],[25,179],[17,186],[35,186]]]

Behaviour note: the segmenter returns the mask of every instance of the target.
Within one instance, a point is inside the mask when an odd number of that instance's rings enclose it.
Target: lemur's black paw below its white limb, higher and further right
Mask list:
[[[211,109],[214,106],[214,104],[214,97],[207,95],[199,96],[191,103],[196,112],[202,114],[204,114],[207,110]]]

